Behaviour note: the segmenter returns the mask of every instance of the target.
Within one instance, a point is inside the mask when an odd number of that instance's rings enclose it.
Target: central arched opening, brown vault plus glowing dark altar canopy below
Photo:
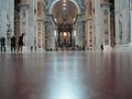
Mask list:
[[[78,14],[77,6],[69,0],[56,2],[52,14],[57,25],[57,47],[73,47],[73,26]]]

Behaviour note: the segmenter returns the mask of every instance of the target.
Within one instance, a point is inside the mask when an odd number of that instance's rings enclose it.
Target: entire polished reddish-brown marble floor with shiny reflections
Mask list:
[[[0,54],[0,99],[132,99],[132,53]]]

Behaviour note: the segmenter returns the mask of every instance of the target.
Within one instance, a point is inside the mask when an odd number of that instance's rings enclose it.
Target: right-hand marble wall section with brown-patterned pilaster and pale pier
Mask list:
[[[111,47],[110,3],[107,0],[86,0],[87,48]]]

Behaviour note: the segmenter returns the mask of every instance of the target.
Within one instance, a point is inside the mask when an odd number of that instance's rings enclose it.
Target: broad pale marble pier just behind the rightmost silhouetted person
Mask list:
[[[37,31],[37,1],[22,0],[20,4],[20,34],[24,35],[24,50],[35,46],[35,33]]]

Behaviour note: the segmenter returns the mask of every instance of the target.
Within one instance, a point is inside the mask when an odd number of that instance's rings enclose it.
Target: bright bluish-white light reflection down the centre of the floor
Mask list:
[[[79,62],[75,53],[55,54],[55,58],[51,66],[54,72],[47,80],[47,99],[80,99],[85,95],[85,88],[81,82],[81,75],[78,75]],[[70,57],[67,57],[67,54]],[[58,55],[58,56],[57,56]],[[63,57],[63,58],[62,58]],[[45,89],[45,88],[44,88]]]

